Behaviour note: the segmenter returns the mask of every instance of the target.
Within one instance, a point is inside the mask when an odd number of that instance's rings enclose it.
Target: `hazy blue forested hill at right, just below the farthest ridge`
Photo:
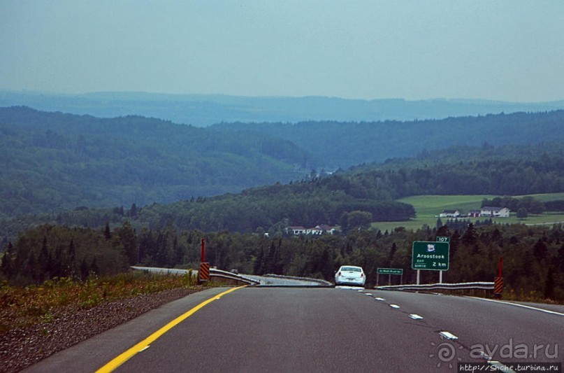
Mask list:
[[[308,149],[325,167],[348,168],[452,146],[564,141],[564,111],[412,122],[221,123],[214,129],[260,132]]]

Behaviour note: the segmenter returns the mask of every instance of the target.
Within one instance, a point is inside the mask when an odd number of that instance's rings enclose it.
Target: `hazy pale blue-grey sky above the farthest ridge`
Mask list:
[[[564,99],[562,0],[1,0],[0,89]]]

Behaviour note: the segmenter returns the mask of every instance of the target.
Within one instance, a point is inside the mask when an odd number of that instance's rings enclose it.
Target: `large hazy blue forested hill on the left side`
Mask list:
[[[0,108],[0,218],[238,192],[303,178],[307,159],[267,134]]]

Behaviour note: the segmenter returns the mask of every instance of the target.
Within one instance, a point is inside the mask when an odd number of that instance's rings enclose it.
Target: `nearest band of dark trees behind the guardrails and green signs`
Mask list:
[[[83,279],[112,274],[128,265],[195,268],[201,238],[208,260],[222,269],[247,274],[284,274],[331,281],[342,264],[361,265],[367,286],[375,285],[377,268],[404,269],[404,281],[415,281],[411,269],[413,241],[450,237],[446,282],[493,281],[498,258],[504,260],[505,296],[564,300],[564,225],[448,225],[415,232],[349,230],[346,236],[266,237],[263,234],[180,231],[173,224],[135,232],[129,223],[114,230],[41,225],[23,232],[1,260],[0,276],[13,284],[41,283],[52,276]],[[438,274],[423,271],[422,281]],[[397,280],[396,280],[397,281]]]

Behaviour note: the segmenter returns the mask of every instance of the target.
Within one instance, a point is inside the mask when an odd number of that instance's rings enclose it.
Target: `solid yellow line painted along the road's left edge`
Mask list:
[[[194,307],[190,311],[186,312],[185,314],[178,316],[173,321],[164,325],[164,327],[160,328],[159,330],[154,332],[149,337],[143,339],[143,341],[141,341],[138,344],[136,344],[135,346],[131,347],[131,349],[125,351],[120,356],[113,358],[113,360],[110,360],[109,363],[106,363],[106,365],[101,367],[99,370],[96,370],[96,373],[113,372],[115,369],[117,369],[117,367],[119,367],[120,365],[125,363],[127,360],[129,360],[130,358],[135,356],[140,351],[147,349],[147,347],[150,346],[150,344],[152,344],[152,342],[156,341],[159,337],[161,337],[161,335],[164,335],[164,333],[168,332],[168,330],[171,330],[176,325],[182,323],[182,321],[185,321],[187,318],[189,318],[194,313],[196,313],[196,311],[198,311],[199,309],[202,309],[203,307],[210,304],[214,300],[219,300],[219,298],[221,298],[222,296],[229,294],[232,291],[238,290],[240,288],[245,288],[245,286],[239,286],[238,288],[231,288],[229,290],[224,291],[223,293],[221,293],[219,295],[214,295],[210,299],[205,300],[204,302],[201,302],[200,304],[198,304],[196,307]]]

